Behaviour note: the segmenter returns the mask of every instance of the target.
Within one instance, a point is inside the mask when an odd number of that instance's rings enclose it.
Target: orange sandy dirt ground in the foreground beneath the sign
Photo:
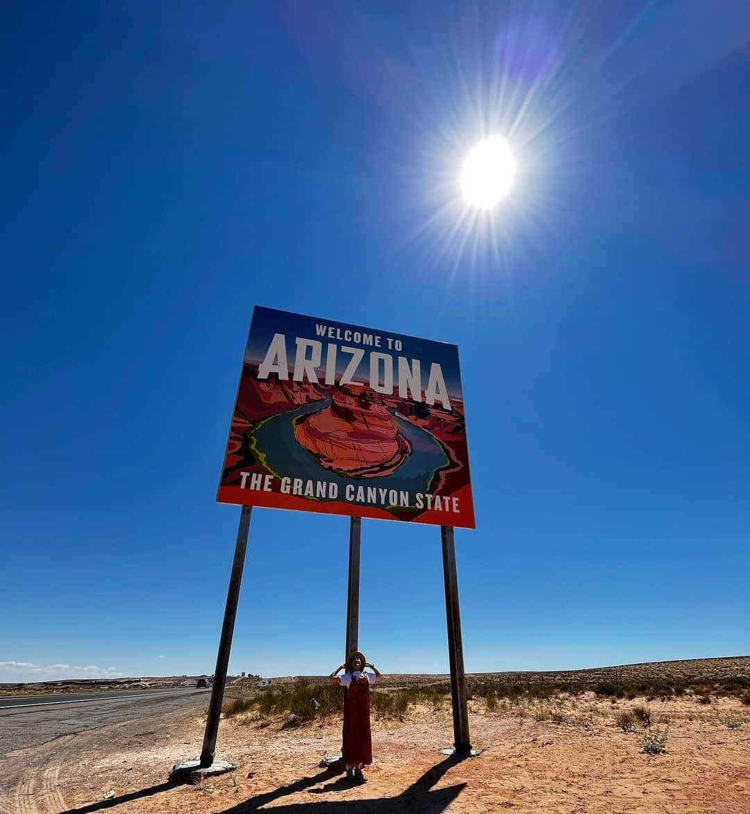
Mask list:
[[[618,712],[648,708],[649,728],[624,732]],[[194,759],[203,715],[170,713],[59,738],[4,759],[2,814],[95,812],[750,812],[750,708],[735,698],[666,702],[591,693],[525,706],[469,702],[477,757],[446,758],[449,704],[411,707],[406,720],[373,720],[374,763],[351,786],[319,768],[337,754],[336,720],[296,729],[284,720],[223,721],[217,756],[238,771],[200,785],[166,783],[172,763]],[[539,720],[554,713],[558,723]],[[666,752],[643,754],[643,734],[667,733]],[[115,798],[105,801],[113,791]]]

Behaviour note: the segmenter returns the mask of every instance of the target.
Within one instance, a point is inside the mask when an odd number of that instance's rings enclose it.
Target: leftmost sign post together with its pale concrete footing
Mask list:
[[[219,652],[216,655],[216,669],[214,670],[214,680],[211,686],[211,700],[208,702],[206,731],[203,735],[203,751],[201,751],[199,761],[178,764],[172,768],[172,773],[169,776],[170,779],[189,777],[194,773],[219,774],[220,772],[231,772],[237,768],[234,764],[229,763],[229,761],[215,761],[214,754],[216,752],[216,736],[219,733],[221,704],[224,701],[224,689],[227,679],[227,670],[229,668],[229,651],[232,649],[234,620],[237,617],[242,569],[245,565],[247,536],[250,534],[251,514],[252,506],[243,505],[237,530],[237,544],[234,547],[232,575],[229,578],[229,590],[227,591],[227,602],[224,610],[224,624],[221,626]]]

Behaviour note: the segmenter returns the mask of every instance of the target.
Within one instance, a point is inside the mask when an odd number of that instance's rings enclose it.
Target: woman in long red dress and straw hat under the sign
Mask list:
[[[373,672],[364,672],[369,667]],[[344,670],[343,676],[337,676]],[[363,766],[373,762],[373,738],[370,733],[370,685],[380,678],[374,664],[368,664],[359,650],[349,654],[347,663],[336,667],[331,681],[347,688],[344,701],[343,759],[350,780],[364,781]]]

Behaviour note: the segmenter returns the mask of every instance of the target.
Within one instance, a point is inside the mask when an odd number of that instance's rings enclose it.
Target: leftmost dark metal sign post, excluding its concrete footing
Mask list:
[[[237,545],[234,548],[234,562],[232,576],[229,579],[227,604],[224,611],[224,624],[221,627],[219,653],[216,656],[216,670],[214,682],[211,687],[211,701],[208,702],[208,718],[206,720],[206,733],[203,736],[203,751],[201,752],[201,768],[211,766],[216,752],[216,735],[219,733],[219,718],[221,716],[221,703],[224,701],[224,685],[229,667],[229,650],[232,648],[232,634],[234,632],[234,619],[237,616],[237,602],[242,582],[242,567],[245,564],[245,551],[247,549],[247,535],[250,533],[251,506],[242,506],[240,524],[237,531]]]

